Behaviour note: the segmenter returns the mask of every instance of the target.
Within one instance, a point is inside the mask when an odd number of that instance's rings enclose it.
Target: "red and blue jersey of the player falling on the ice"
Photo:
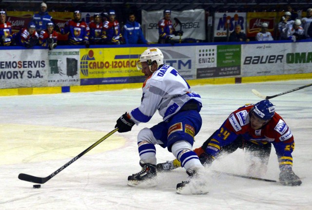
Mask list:
[[[280,168],[292,167],[294,139],[292,131],[283,118],[275,112],[273,118],[261,128],[254,130],[250,125],[250,110],[254,105],[244,105],[230,114],[214,133],[206,153],[216,156],[220,147],[230,145],[237,137],[257,145],[273,144]]]

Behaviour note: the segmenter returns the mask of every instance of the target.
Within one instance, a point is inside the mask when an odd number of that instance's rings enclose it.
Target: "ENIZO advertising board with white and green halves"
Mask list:
[[[197,46],[197,79],[240,75],[240,56],[240,45]]]

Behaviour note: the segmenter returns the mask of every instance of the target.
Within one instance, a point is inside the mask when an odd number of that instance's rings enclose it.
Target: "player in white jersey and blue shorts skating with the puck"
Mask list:
[[[158,48],[147,49],[141,54],[138,69],[146,77],[141,105],[123,114],[115,126],[118,132],[128,132],[135,124],[148,122],[157,110],[163,118],[162,122],[151,128],[145,127],[138,133],[142,169],[128,177],[128,185],[137,186],[156,178],[157,144],[167,147],[189,175],[188,181],[177,184],[177,193],[206,193],[205,183],[199,178],[204,167],[192,149],[194,137],[202,125],[199,114],[201,98],[174,67],[164,64],[163,58]]]

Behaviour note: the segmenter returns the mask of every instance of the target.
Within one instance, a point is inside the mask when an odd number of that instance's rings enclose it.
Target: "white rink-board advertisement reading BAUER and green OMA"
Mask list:
[[[242,45],[242,76],[311,73],[309,42]]]

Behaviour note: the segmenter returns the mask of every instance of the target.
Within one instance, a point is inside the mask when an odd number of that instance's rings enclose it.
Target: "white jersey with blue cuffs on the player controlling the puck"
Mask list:
[[[136,124],[148,122],[156,110],[166,121],[190,100],[201,105],[200,96],[191,91],[174,67],[166,64],[145,80],[142,90],[141,105],[129,112]]]

